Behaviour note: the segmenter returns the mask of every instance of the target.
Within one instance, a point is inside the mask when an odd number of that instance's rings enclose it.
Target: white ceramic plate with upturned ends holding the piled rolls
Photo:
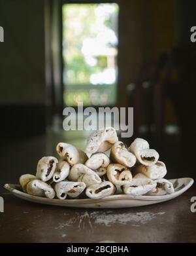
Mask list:
[[[52,206],[65,206],[77,208],[129,208],[137,206],[147,206],[149,204],[157,204],[167,200],[171,200],[180,196],[193,185],[192,178],[170,179],[174,184],[175,192],[164,196],[129,196],[127,194],[114,194],[101,199],[48,199],[39,196],[31,196],[21,191],[20,185],[5,184],[5,189],[8,189],[12,194],[30,202],[39,204],[50,204]]]

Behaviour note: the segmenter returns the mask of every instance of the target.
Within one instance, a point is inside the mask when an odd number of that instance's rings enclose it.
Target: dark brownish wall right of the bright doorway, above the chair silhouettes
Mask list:
[[[177,43],[176,0],[120,1],[118,105],[129,106],[127,84],[144,64]]]

